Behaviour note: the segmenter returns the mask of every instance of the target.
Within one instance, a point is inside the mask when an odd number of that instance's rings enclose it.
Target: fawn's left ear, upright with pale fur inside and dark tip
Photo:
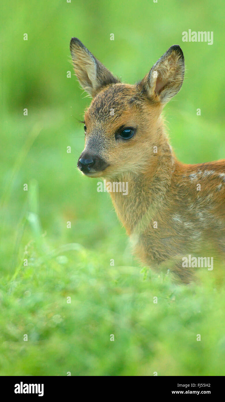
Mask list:
[[[70,41],[73,68],[82,88],[94,97],[105,85],[120,82],[77,38]]]

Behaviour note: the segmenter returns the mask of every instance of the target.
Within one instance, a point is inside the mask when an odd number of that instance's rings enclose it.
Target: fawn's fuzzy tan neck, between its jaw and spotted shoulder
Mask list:
[[[171,183],[176,160],[163,128],[159,130],[157,153],[153,152],[153,147],[149,150],[146,158],[148,166],[140,173],[124,173],[117,178],[117,181],[128,183],[128,195],[110,193],[117,215],[129,235],[138,230],[138,225],[146,219],[149,222],[154,217]]]

